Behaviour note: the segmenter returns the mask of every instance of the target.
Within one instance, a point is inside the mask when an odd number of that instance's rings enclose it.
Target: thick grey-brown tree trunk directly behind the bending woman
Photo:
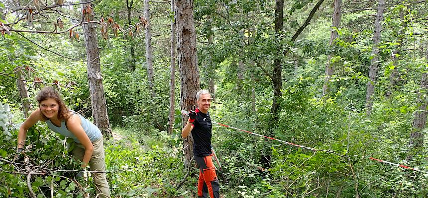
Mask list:
[[[88,2],[90,0],[84,0]],[[87,3],[91,4],[92,3]],[[82,4],[82,10],[87,4]],[[98,49],[95,23],[82,25],[85,37],[86,60],[88,61],[89,94],[91,95],[92,116],[94,124],[107,136],[111,136],[110,122],[107,116],[107,105],[104,97],[103,76],[100,68],[100,51]]]

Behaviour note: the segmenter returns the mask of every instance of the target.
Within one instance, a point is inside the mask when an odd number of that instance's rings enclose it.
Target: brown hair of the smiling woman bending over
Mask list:
[[[43,87],[42,90],[40,90],[40,92],[37,94],[36,99],[37,99],[37,102],[39,103],[39,108],[40,108],[40,103],[42,101],[48,100],[48,99],[54,99],[59,105],[58,120],[67,121],[69,119],[70,115],[69,115],[68,107],[65,105],[58,91],[56,91],[52,86]],[[48,118],[43,113],[42,113],[42,118],[43,120],[48,120]]]

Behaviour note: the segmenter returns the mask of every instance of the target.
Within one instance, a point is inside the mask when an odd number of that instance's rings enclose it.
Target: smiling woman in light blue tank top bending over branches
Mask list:
[[[39,108],[24,121],[18,133],[18,152],[24,149],[27,131],[38,121],[45,122],[49,129],[69,138],[73,138],[77,146],[73,155],[82,160],[82,168],[89,163],[91,171],[104,172],[103,135],[93,123],[70,111],[65,106],[59,93],[53,87],[44,87],[37,95]],[[110,190],[105,173],[92,173],[96,192],[100,198],[110,198]]]

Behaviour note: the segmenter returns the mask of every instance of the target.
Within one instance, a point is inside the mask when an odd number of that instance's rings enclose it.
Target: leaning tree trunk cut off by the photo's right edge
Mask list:
[[[426,61],[428,62],[428,48],[426,54]],[[410,134],[410,145],[414,148],[422,147],[424,144],[425,124],[427,122],[427,105],[428,98],[426,97],[428,91],[428,73],[424,72],[421,79],[421,93],[418,95],[418,110],[415,112],[415,120],[413,120],[412,132]]]

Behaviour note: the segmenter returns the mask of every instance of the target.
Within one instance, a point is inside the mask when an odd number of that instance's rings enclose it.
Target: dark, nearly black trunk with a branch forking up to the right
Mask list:
[[[275,32],[277,33],[277,36],[282,34],[282,31],[284,29],[284,16],[283,16],[283,9],[284,9],[284,0],[275,0]],[[279,56],[282,52],[282,49],[278,48],[278,55],[277,59],[274,61],[274,67],[273,67],[273,79],[272,79],[272,85],[273,85],[273,101],[272,101],[272,107],[271,107],[271,113],[273,114],[274,119],[276,120],[278,118],[278,109],[279,109],[279,99],[282,96],[282,56]]]

